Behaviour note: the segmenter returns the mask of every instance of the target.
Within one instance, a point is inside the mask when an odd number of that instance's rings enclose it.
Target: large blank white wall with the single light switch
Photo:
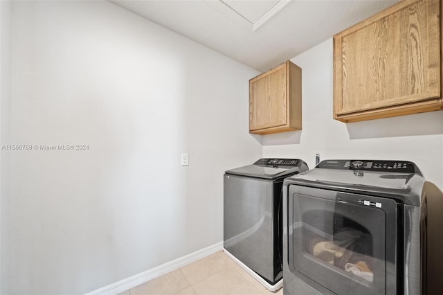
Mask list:
[[[262,155],[257,72],[106,1],[12,8],[12,143],[89,145],[12,152],[12,292],[82,294],[221,242],[223,172]]]

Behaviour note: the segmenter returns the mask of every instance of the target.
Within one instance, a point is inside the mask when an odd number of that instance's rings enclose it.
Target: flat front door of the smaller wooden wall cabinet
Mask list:
[[[252,79],[249,83],[249,129],[287,124],[286,64]]]

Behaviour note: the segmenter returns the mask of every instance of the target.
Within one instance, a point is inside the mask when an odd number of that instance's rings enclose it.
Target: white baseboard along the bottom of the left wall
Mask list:
[[[148,269],[147,271],[143,271],[140,274],[136,274],[134,276],[130,276],[129,278],[125,278],[123,280],[119,280],[116,283],[111,285],[107,285],[105,287],[101,287],[100,289],[96,289],[94,291],[88,292],[84,295],[115,295],[120,292],[126,291],[135,287],[137,285],[141,285],[148,280],[152,280],[153,278],[157,278],[162,276],[163,274],[167,274],[174,269],[178,269],[180,267],[184,267],[196,260],[209,256],[217,251],[221,251],[223,249],[223,241],[218,242],[217,244],[213,244],[212,246],[206,247],[199,251],[195,251],[194,253],[190,253],[181,258],[177,258],[170,262],[166,262],[163,265],[159,265],[158,267],[154,267],[153,269]]]

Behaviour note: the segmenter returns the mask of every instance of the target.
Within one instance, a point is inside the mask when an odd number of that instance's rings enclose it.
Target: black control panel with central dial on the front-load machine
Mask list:
[[[377,172],[418,172],[413,162],[385,160],[325,160],[321,161],[317,168]]]

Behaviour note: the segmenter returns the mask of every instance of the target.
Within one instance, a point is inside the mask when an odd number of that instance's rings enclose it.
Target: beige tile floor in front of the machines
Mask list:
[[[219,251],[119,295],[282,295],[270,292]]]

